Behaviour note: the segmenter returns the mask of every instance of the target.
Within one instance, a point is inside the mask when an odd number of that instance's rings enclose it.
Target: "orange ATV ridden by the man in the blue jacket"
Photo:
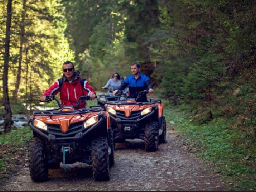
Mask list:
[[[136,99],[107,102],[105,107],[109,112],[114,143],[122,143],[126,139],[142,139],[146,151],[158,150],[158,144],[166,142],[166,122],[164,105],[161,100],[152,99],[147,102],[137,102],[147,94],[144,90]],[[117,94],[122,94],[118,91]]]

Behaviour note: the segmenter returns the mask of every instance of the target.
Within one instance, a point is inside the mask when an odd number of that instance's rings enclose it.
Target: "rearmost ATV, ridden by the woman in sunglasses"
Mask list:
[[[108,90],[107,93],[99,93],[97,100],[98,100],[98,105],[104,106],[107,102],[109,101],[117,101],[117,100],[126,100],[127,95],[126,94],[121,94],[121,95],[113,95],[113,91],[116,89],[114,87],[111,87],[110,89],[105,88]]]

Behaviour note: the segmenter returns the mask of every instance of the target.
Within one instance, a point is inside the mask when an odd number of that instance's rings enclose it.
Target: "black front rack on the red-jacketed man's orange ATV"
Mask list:
[[[58,109],[61,110],[61,109]],[[99,112],[102,110],[102,107],[92,107],[87,109],[78,109],[78,110],[70,110],[70,111],[35,111],[33,115],[35,116],[53,116],[53,115],[81,115],[83,113],[91,113],[91,112]]]

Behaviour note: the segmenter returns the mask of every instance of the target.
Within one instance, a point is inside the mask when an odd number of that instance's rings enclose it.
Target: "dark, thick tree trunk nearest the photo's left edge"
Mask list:
[[[4,120],[4,132],[8,133],[12,129],[12,110],[9,100],[8,92],[8,68],[10,56],[10,36],[11,36],[11,17],[12,17],[12,0],[8,0],[7,14],[6,14],[6,39],[4,52],[4,66],[3,66],[3,104],[6,112]]]

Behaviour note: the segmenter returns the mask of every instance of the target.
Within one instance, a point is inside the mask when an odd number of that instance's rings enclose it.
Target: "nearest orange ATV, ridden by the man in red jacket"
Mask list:
[[[78,98],[75,106],[35,111],[29,118],[33,138],[28,144],[29,172],[32,181],[48,180],[48,169],[58,169],[60,163],[66,171],[66,164],[76,162],[92,165],[95,181],[109,181],[110,166],[115,163],[113,132],[109,114],[101,106],[77,109],[90,96]],[[37,103],[39,103],[37,102]]]

